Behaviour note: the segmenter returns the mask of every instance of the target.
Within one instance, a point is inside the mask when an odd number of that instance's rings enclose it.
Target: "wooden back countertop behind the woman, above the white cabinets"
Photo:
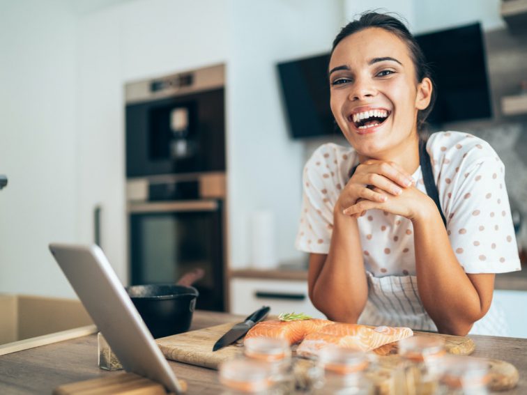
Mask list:
[[[243,279],[307,281],[307,267],[305,265],[283,265],[275,269],[236,269],[231,270],[230,276]],[[496,274],[494,289],[527,291],[527,268],[524,266],[521,272]]]

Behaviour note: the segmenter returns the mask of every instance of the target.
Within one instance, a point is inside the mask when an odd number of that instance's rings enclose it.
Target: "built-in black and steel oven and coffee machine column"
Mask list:
[[[197,309],[224,311],[224,66],[126,85],[130,284],[200,268]]]

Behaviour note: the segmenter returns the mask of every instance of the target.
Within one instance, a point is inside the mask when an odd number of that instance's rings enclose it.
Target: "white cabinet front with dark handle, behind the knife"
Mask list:
[[[230,287],[231,313],[249,315],[266,305],[273,315],[295,311],[314,318],[326,318],[311,303],[307,281],[234,278]]]

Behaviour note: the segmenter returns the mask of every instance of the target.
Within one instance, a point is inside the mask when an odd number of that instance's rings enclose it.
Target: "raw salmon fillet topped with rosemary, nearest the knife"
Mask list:
[[[247,332],[245,339],[250,339],[251,337],[272,337],[275,339],[286,339],[289,344],[294,344],[304,339],[307,334],[321,330],[330,324],[333,324],[333,321],[319,318],[293,321],[262,321]]]

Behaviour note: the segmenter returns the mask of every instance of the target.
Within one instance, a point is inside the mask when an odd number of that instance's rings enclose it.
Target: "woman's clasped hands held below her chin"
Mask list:
[[[351,217],[376,208],[413,219],[419,202],[427,197],[399,164],[371,159],[357,166],[339,196],[337,207]]]

